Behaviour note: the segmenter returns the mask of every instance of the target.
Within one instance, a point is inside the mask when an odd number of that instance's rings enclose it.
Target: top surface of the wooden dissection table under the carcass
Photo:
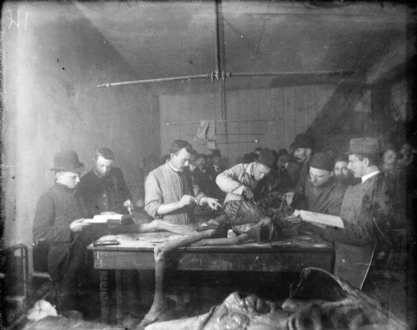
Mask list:
[[[174,240],[181,235],[169,231],[157,231],[153,233],[129,233],[119,235],[106,235],[100,240],[117,240],[120,245],[107,246],[88,246],[93,251],[154,251],[154,247],[168,240]],[[199,247],[181,247],[178,251],[188,252],[282,252],[282,251],[316,251],[329,252],[333,251],[333,245],[318,236],[283,236],[280,240],[258,244],[256,242],[246,242],[240,245],[211,245]]]

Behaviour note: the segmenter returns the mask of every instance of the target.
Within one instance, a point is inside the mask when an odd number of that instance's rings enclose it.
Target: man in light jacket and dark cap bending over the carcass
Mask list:
[[[266,147],[252,163],[237,164],[218,175],[215,183],[227,192],[224,204],[228,201],[254,199],[254,190],[271,169],[277,166],[277,156]]]

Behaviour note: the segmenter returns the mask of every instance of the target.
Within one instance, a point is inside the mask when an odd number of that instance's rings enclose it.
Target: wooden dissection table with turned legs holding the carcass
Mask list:
[[[94,267],[100,273],[101,321],[108,320],[108,270],[115,270],[116,317],[122,319],[122,270],[154,270],[154,246],[179,235],[160,231],[104,236],[120,245],[95,247]],[[272,243],[274,247],[272,247]],[[332,272],[334,248],[313,236],[288,236],[278,242],[259,245],[182,247],[167,258],[167,267],[175,270],[300,272],[318,267]]]

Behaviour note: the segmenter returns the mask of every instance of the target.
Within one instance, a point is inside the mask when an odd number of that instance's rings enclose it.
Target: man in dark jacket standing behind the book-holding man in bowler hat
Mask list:
[[[129,214],[128,210],[133,209],[131,193],[122,170],[113,166],[113,151],[99,148],[92,160],[92,169],[81,178],[77,189],[77,195],[85,201],[86,217],[108,212]]]

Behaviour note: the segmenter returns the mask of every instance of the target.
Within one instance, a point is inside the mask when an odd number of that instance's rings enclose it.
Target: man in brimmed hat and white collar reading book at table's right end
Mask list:
[[[349,185],[343,197],[340,216],[345,229],[316,227],[316,233],[335,243],[334,274],[362,288],[377,243],[379,248],[391,246],[390,234],[396,222],[384,189],[384,174],[377,167],[377,139],[354,138],[346,154],[349,155],[347,168],[361,183]]]

